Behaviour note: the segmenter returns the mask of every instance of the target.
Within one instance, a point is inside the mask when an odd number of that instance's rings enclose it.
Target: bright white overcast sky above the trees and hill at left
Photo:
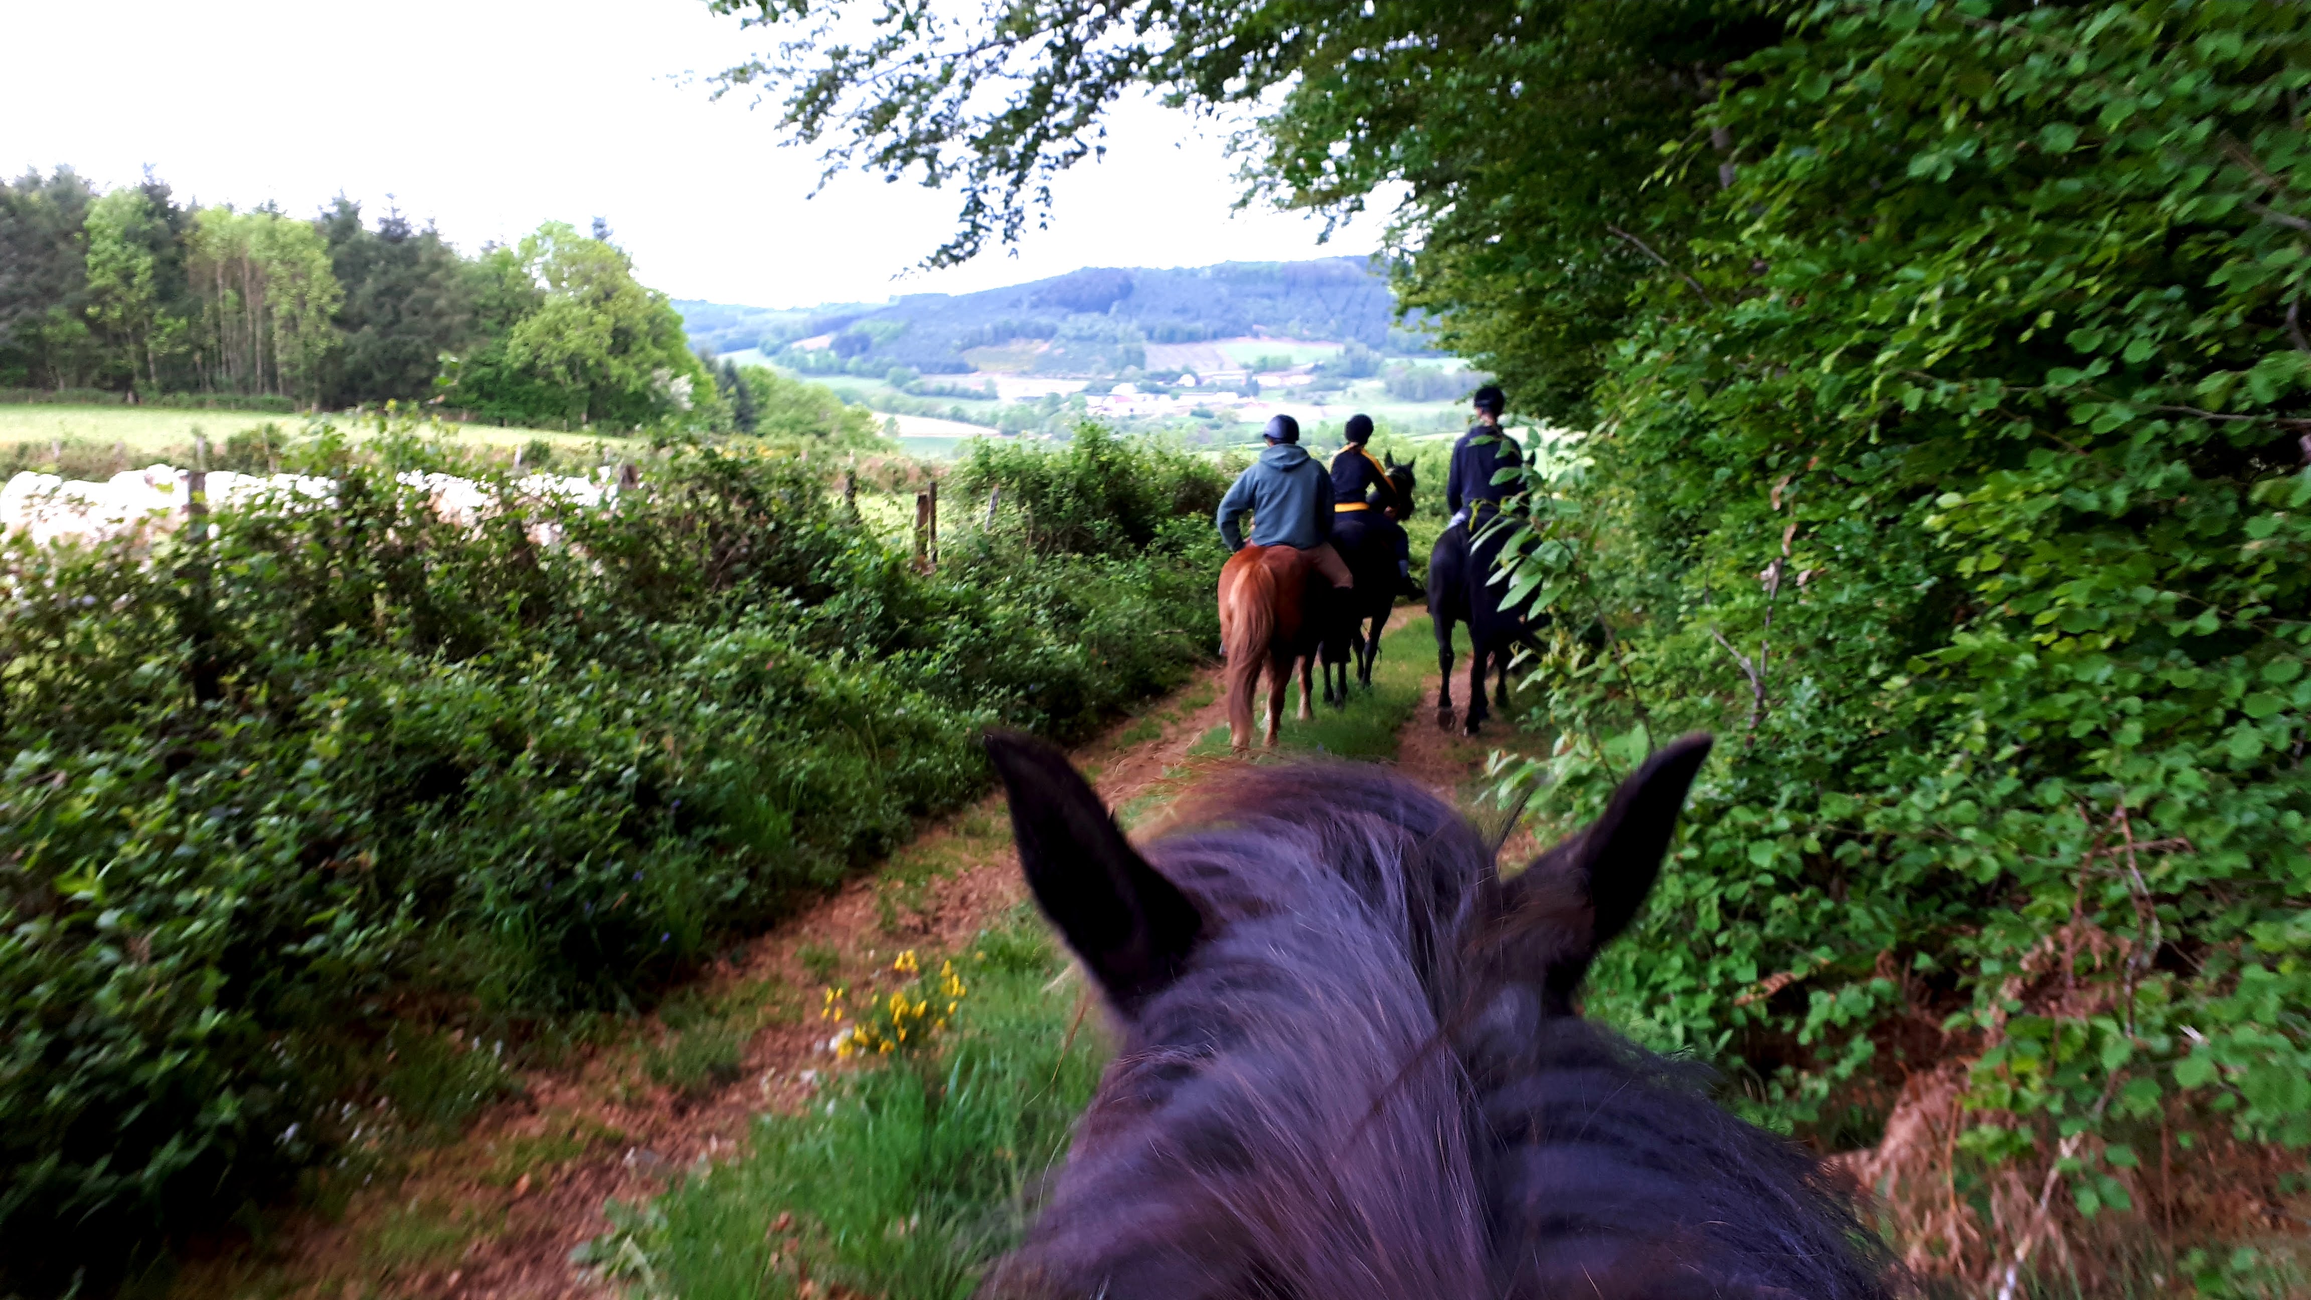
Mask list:
[[[1202,266],[1373,250],[1373,224],[1250,208],[1216,136],[1139,104],[1105,164],[1058,190],[1019,257],[911,275],[957,199],[855,176],[804,199],[809,150],[703,74],[760,46],[698,0],[21,2],[0,76],[0,167],[97,185],[150,164],[178,197],[310,213],[388,194],[465,250],[605,217],[642,280],[753,305],[968,291],[1077,266]],[[686,74],[700,76],[686,76]]]

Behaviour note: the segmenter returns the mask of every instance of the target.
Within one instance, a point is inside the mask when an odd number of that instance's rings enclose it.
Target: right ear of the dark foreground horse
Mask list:
[[[1715,740],[1692,733],[1659,749],[1634,777],[1620,782],[1604,817],[1585,830],[1541,854],[1509,884],[1511,904],[1558,898],[1574,902],[1588,923],[1585,937],[1567,937],[1551,962],[1548,983],[1571,992],[1588,974],[1590,960],[1611,944],[1652,893],[1662,874],[1662,856],[1678,828],[1685,791],[1710,756]]]

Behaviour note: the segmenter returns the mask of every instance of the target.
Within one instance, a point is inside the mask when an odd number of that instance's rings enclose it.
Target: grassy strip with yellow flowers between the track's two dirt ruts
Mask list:
[[[1308,722],[1287,719],[1278,754],[1394,759],[1433,675],[1431,652],[1428,618],[1400,620],[1373,689],[1357,687],[1345,708],[1320,706]],[[1202,761],[1165,768],[1119,814],[1144,819],[1225,754],[1227,726],[1202,729],[1188,749]],[[913,965],[927,974],[945,958],[915,953]],[[582,1249],[585,1263],[640,1295],[684,1300],[968,1295],[1017,1242],[1035,1189],[1065,1157],[1107,1043],[1031,907],[1010,909],[952,960],[968,995],[929,1050],[874,1055],[797,1113],[760,1115],[737,1161],[698,1166],[656,1201],[612,1207],[615,1228]],[[887,992],[876,997],[887,1009]],[[832,1036],[841,1022],[820,1025]]]

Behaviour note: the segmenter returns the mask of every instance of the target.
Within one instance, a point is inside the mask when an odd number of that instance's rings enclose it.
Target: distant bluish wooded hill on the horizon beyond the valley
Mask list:
[[[1361,257],[1223,261],[1183,271],[1093,266],[980,294],[770,310],[677,301],[691,345],[760,349],[809,372],[1077,375],[1181,365],[1206,340],[1276,338],[1428,354],[1396,322],[1387,278]]]

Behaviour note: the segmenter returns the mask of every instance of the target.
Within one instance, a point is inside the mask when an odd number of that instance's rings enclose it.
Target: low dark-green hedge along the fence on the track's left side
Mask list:
[[[1077,736],[1216,636],[1204,527],[927,576],[760,449],[592,511],[367,446],[293,451],[328,502],[5,553],[0,1286],[284,1191],[374,1122],[395,1025],[647,999],[973,796],[978,729]]]

